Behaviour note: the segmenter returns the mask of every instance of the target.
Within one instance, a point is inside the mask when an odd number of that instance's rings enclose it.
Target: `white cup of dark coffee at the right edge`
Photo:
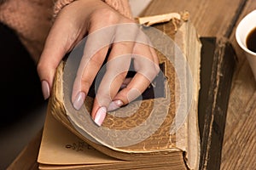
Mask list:
[[[249,50],[246,44],[247,36],[253,28],[256,28],[256,10],[247,14],[236,28],[236,42],[245,51],[247,60],[253,71],[253,76],[256,80],[256,53]]]

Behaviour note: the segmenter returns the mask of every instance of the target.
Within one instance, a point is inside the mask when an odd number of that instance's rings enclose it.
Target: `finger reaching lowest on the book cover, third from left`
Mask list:
[[[118,93],[129,70],[131,52],[133,51],[134,40],[137,37],[138,27],[134,24],[116,25],[114,31],[114,43],[106,65],[107,71],[102,78],[91,111],[91,116],[99,126],[101,126],[106,116],[108,105],[113,96]]]

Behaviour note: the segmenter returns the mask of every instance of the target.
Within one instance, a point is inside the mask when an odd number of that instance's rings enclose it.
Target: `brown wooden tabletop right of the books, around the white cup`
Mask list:
[[[220,169],[256,167],[256,83],[235,31],[243,16],[256,9],[255,0],[153,0],[143,15],[188,10],[201,37],[227,37],[237,55],[224,131]],[[256,19],[255,19],[256,20]]]

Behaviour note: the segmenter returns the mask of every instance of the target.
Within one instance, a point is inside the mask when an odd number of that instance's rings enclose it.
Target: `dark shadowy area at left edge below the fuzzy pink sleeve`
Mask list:
[[[0,170],[44,126],[47,101],[36,64],[15,31],[0,23]]]

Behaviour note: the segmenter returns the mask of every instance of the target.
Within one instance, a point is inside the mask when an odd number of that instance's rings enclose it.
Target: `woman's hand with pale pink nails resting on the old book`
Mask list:
[[[92,118],[100,126],[107,111],[136,99],[148,88],[160,69],[154,48],[149,46],[148,38],[133,20],[102,1],[78,0],[61,9],[38,62],[45,99],[49,98],[55,69],[61,59],[86,35],[89,36],[73,84],[72,102],[74,108],[79,110],[103,61],[108,57],[107,70],[91,111]],[[102,47],[104,42],[108,45]],[[131,59],[137,74],[125,79]]]

